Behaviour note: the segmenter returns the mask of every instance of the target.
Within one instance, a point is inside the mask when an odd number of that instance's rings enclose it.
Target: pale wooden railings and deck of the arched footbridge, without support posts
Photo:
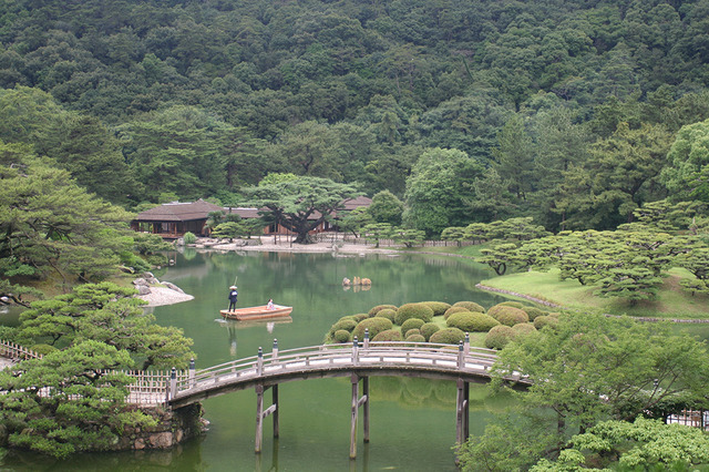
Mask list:
[[[430,342],[380,341],[308,346],[279,351],[275,342],[271,352],[225,362],[191,372],[175,382],[174,393],[194,387],[209,388],[224,381],[258,378],[296,369],[336,368],[358,365],[428,365],[439,369],[486,372],[496,360],[491,349]]]

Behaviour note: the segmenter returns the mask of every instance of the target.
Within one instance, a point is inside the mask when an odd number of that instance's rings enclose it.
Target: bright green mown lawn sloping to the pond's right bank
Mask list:
[[[597,309],[614,315],[659,318],[709,318],[709,297],[691,296],[679,286],[688,277],[682,269],[671,269],[655,300],[638,301],[635,306],[616,298],[593,295],[594,287],[585,287],[575,280],[558,280],[558,269],[548,273],[526,271],[483,280],[482,284],[528,295],[559,304],[572,309]]]

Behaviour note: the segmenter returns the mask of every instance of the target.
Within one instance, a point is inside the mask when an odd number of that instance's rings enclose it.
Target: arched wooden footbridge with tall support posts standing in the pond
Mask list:
[[[364,442],[369,442],[369,377],[405,376],[453,380],[458,383],[456,441],[469,435],[469,382],[490,379],[490,367],[495,362],[495,351],[471,348],[467,342],[458,347],[430,342],[364,342],[350,345],[311,346],[279,351],[274,340],[271,352],[238,359],[207,369],[177,376],[173,371],[166,391],[166,404],[182,408],[187,404],[255,388],[256,452],[263,442],[263,421],[273,414],[274,437],[278,437],[278,384],[311,378],[350,377],[352,383],[352,417],[350,458],[356,456],[357,421],[363,407]],[[362,380],[362,396],[359,382]],[[511,381],[525,383],[518,376]],[[264,409],[264,392],[271,389],[273,404]]]

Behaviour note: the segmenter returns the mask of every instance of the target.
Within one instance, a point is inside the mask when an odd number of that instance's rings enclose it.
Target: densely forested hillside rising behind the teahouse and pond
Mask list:
[[[429,235],[709,199],[707,0],[0,4],[0,140],[127,208],[270,172],[391,191]]]

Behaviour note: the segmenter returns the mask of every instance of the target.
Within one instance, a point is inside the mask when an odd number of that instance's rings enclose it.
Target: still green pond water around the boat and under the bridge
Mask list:
[[[157,307],[165,326],[184,329],[194,339],[197,369],[270,351],[274,338],[281,350],[322,342],[341,316],[368,311],[380,304],[474,300],[485,307],[502,298],[477,290],[490,273],[470,260],[424,255],[197,253],[173,257],[163,273],[194,295],[192,301]],[[368,277],[369,290],[345,290],[343,277]],[[276,304],[294,307],[287,324],[223,321],[228,286],[237,280],[238,306]],[[256,394],[228,393],[204,402],[209,431],[171,451],[92,453],[55,462],[27,453],[8,453],[0,470],[76,471],[455,471],[454,382],[424,379],[371,378],[370,443],[362,442],[349,460],[349,379],[284,383],[279,389],[280,438],[265,422],[264,450],[254,453]],[[270,394],[266,394],[266,407]],[[492,411],[508,399],[489,397],[484,384],[471,386],[471,433],[481,433]]]

